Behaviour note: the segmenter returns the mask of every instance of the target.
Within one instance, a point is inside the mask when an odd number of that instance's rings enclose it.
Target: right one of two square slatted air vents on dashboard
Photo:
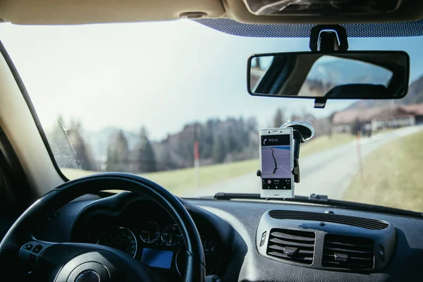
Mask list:
[[[373,269],[374,242],[368,238],[327,234],[321,264],[338,269]]]

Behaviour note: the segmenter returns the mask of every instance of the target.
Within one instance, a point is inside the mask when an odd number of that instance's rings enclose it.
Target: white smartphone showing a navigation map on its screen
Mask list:
[[[261,197],[294,197],[293,128],[259,130]]]

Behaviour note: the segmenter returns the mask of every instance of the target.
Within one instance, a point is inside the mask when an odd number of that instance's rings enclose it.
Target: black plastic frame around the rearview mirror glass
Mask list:
[[[255,59],[257,57],[262,56],[283,56],[283,55],[305,55],[305,54],[320,54],[322,56],[339,56],[339,55],[345,55],[345,54],[398,54],[405,56],[405,70],[403,72],[393,72],[393,77],[391,80],[398,80],[404,81],[405,85],[403,87],[400,87],[398,92],[399,94],[396,94],[395,96],[391,96],[389,98],[381,98],[381,97],[366,97],[365,95],[362,95],[362,97],[359,98],[350,98],[350,97],[307,97],[307,96],[294,96],[294,95],[275,95],[275,94],[260,94],[260,93],[254,93],[250,89],[250,78],[251,78],[251,65],[252,65],[252,59]],[[248,57],[247,60],[247,92],[251,96],[258,96],[258,97],[278,97],[278,98],[295,98],[295,99],[402,99],[407,95],[408,92],[408,85],[410,83],[410,56],[405,51],[331,51],[331,52],[322,52],[322,51],[300,51],[300,52],[281,52],[281,53],[266,53],[266,54],[252,54]],[[372,85],[373,86],[373,85]],[[400,85],[402,86],[402,85]]]

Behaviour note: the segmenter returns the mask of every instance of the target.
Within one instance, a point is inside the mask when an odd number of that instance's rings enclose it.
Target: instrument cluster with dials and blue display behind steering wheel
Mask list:
[[[121,220],[97,221],[92,226],[88,243],[114,247],[142,264],[168,274],[183,276],[185,244],[179,226],[166,212],[155,207],[143,214],[140,217],[131,214],[129,217],[125,213]],[[207,275],[216,274],[220,261],[220,239],[207,223],[195,223],[204,248]]]

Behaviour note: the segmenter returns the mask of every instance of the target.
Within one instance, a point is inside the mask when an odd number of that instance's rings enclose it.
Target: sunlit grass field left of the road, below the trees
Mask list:
[[[349,142],[353,139],[354,137],[352,135],[334,134],[331,138],[322,136],[316,138],[315,140],[310,140],[309,142],[302,145],[300,150],[300,157],[306,157],[309,154],[342,145],[345,142]],[[200,187],[204,187],[212,183],[218,183],[219,181],[229,178],[243,176],[247,173],[255,173],[257,169],[259,169],[258,159],[237,161],[228,164],[202,166],[200,168]],[[96,171],[82,171],[72,168],[61,168],[61,170],[63,171],[63,174],[69,179],[75,179],[81,176],[97,173]],[[180,195],[187,190],[195,188],[196,185],[194,168],[184,168],[175,171],[159,171],[140,175],[159,183],[176,195]]]

